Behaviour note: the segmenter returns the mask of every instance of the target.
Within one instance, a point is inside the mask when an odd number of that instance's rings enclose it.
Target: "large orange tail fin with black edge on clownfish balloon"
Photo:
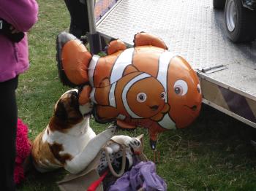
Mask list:
[[[56,39],[56,61],[63,85],[76,87],[89,82],[91,53],[72,34],[61,32]]]

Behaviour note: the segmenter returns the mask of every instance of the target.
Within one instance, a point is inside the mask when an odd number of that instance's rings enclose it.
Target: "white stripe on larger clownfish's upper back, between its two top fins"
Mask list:
[[[134,48],[129,48],[124,50],[124,52],[121,52],[121,54],[118,56],[110,74],[110,84],[113,84],[114,82],[118,81],[118,79],[121,79],[124,69],[126,69],[128,65],[132,64],[133,52]]]

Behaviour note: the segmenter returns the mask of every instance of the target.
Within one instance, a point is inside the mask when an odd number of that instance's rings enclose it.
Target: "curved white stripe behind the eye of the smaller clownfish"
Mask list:
[[[129,104],[128,104],[128,101],[127,101],[127,93],[129,91],[129,88],[132,87],[132,85],[134,85],[136,82],[138,82],[140,79],[145,79],[145,78],[148,78],[148,77],[151,77],[151,75],[149,74],[146,74],[146,73],[143,73],[143,74],[139,74],[138,76],[134,77],[133,79],[131,79],[127,85],[124,86],[124,89],[123,89],[123,92],[122,92],[122,101],[123,101],[123,104],[124,104],[124,107],[125,109],[127,110],[129,116],[131,116],[132,118],[137,118],[137,119],[140,119],[140,118],[143,118],[143,117],[140,117],[138,116],[137,114],[135,114],[134,112],[132,112],[132,109],[129,108]]]

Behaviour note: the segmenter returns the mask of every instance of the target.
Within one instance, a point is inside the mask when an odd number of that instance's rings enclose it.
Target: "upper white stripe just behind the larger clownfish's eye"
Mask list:
[[[165,51],[159,57],[159,67],[158,67],[158,74],[157,79],[161,82],[162,86],[165,88],[165,92],[167,93],[167,74],[168,68],[170,64],[170,60],[175,55],[172,52]],[[167,102],[167,96],[165,97],[165,102]]]

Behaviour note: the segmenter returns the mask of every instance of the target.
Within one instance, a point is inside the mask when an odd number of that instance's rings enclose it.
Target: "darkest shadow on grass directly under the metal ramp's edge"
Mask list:
[[[201,146],[199,153],[203,148],[232,152],[240,157],[256,157],[250,144],[251,139],[256,139],[256,129],[206,105],[197,121],[190,128],[181,130],[181,135],[186,136],[189,147],[196,148],[193,143],[198,143]]]

